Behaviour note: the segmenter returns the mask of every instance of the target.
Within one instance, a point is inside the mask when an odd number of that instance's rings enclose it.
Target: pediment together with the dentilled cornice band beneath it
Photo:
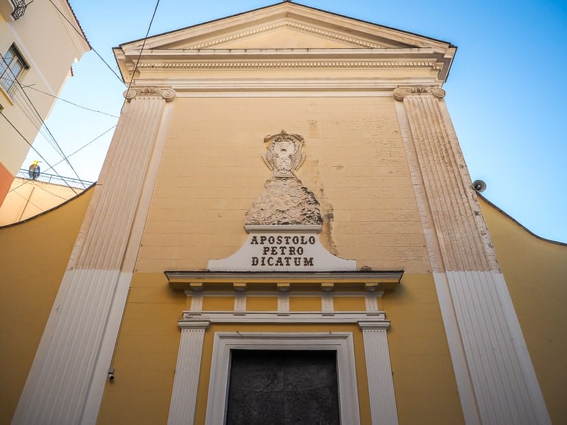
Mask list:
[[[289,2],[148,38],[140,56],[142,43],[114,49],[123,76],[131,76],[140,57],[140,72],[425,67],[443,82],[456,51],[450,43]]]

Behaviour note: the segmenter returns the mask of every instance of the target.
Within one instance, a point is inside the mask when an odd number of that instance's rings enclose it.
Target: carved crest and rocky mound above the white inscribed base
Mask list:
[[[282,130],[264,141],[269,144],[263,159],[274,174],[247,211],[245,225],[321,225],[319,202],[295,173],[305,161],[303,137]]]

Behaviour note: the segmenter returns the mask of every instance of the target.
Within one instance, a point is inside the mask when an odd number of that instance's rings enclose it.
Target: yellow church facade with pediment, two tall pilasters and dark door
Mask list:
[[[142,43],[12,423],[551,423],[456,47],[290,2]]]

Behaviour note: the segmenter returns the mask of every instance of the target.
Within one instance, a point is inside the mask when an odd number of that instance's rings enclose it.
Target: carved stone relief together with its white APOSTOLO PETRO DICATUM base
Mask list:
[[[209,260],[209,271],[355,271],[355,260],[331,254],[317,236],[323,223],[319,201],[296,176],[305,161],[303,137],[282,130],[264,141],[272,175],[246,212],[249,236],[230,257]]]

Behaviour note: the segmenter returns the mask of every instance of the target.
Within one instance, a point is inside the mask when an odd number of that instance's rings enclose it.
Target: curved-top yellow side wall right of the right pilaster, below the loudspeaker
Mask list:
[[[480,198],[553,424],[567,423],[567,244],[533,236]]]

